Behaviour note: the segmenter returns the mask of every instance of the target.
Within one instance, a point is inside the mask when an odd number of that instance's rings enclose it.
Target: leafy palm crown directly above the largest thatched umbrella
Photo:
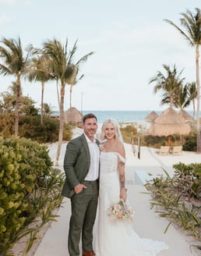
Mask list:
[[[157,72],[157,76],[150,79],[150,83],[156,82],[157,84],[153,88],[153,92],[157,94],[158,91],[164,91],[161,105],[170,104],[172,107],[175,98],[177,98],[178,90],[182,86],[184,78],[180,79],[182,71],[178,73],[176,66],[174,65],[171,70],[170,66],[163,65],[167,74],[163,74],[160,71]]]

